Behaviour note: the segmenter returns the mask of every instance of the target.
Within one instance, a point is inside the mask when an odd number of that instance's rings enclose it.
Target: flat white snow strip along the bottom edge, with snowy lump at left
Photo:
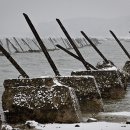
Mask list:
[[[36,130],[130,130],[130,124],[110,122],[39,124],[35,121],[27,121],[26,124],[30,124],[30,127]]]

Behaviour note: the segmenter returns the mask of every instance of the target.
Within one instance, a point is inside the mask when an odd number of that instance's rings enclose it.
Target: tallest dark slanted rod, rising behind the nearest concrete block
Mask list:
[[[40,45],[40,47],[41,47],[43,53],[45,54],[45,56],[46,56],[46,58],[47,58],[47,60],[48,60],[48,62],[49,62],[49,64],[50,64],[51,68],[53,69],[55,75],[56,75],[56,76],[60,76],[60,73],[59,73],[59,71],[58,71],[56,65],[54,64],[52,58],[50,57],[50,55],[49,55],[49,53],[48,53],[48,51],[47,51],[46,46],[43,44],[43,41],[41,40],[39,34],[37,33],[37,31],[36,31],[34,25],[32,24],[31,20],[29,19],[28,15],[25,14],[25,13],[23,13],[23,15],[24,15],[24,17],[25,17],[25,19],[26,19],[26,21],[27,21],[27,23],[28,23],[30,29],[32,30],[32,32],[33,32],[35,38],[37,39],[37,41],[38,41],[38,43],[39,43],[39,45]]]

